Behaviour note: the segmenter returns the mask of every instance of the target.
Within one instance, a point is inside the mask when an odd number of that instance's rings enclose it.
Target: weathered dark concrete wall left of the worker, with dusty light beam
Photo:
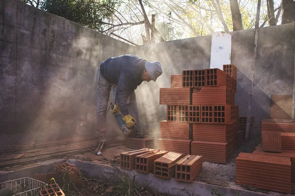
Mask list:
[[[94,133],[97,66],[132,46],[18,0],[0,13],[1,134]]]

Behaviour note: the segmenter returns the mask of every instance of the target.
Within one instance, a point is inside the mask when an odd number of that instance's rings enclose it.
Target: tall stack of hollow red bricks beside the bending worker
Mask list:
[[[234,65],[224,65],[224,71],[186,70],[172,75],[171,88],[160,89],[167,121],[160,122],[159,147],[225,164],[236,146],[235,92]]]

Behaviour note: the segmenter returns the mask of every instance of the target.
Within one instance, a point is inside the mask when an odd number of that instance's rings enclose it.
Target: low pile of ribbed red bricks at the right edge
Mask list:
[[[262,145],[236,159],[236,184],[291,193],[295,182],[295,121],[261,121]]]

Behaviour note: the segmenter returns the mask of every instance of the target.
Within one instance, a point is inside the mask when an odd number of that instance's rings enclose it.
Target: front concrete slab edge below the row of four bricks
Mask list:
[[[119,174],[115,167],[107,164],[97,164],[92,162],[85,162],[75,159],[67,160],[68,163],[76,165],[79,170],[91,178],[97,179],[109,179],[111,175]],[[218,189],[218,193],[224,194],[225,196],[269,196],[269,194],[251,192],[248,190],[238,190],[233,188],[221,187],[206,184],[203,182],[193,181],[192,183],[179,182],[175,178],[169,180],[155,177],[151,173],[141,173],[133,171],[122,170],[128,174],[129,179],[132,179],[134,174],[136,176],[136,183],[140,187],[146,187],[150,192],[157,193],[169,193],[170,195],[177,196],[212,196],[211,191]],[[110,182],[116,181],[116,179],[110,179]],[[236,185],[232,182],[232,186]],[[274,195],[276,195],[275,193]],[[271,194],[272,195],[272,194]]]

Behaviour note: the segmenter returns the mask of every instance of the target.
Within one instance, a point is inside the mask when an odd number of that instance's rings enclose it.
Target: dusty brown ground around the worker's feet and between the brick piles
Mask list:
[[[253,138],[255,139],[252,139],[248,143],[239,147],[232,156],[232,159],[226,165],[204,162],[203,171],[195,179],[195,181],[224,188],[250,190],[257,193],[265,193],[270,195],[285,195],[250,187],[241,187],[235,184],[236,156],[240,152],[253,152],[254,148],[260,143],[259,136]],[[118,140],[117,138],[109,138],[108,140],[109,147],[103,150],[103,155],[108,160],[114,159],[114,155],[118,155],[120,152],[132,150],[131,148],[125,147],[124,140]],[[95,145],[96,140],[93,140],[92,138],[78,137],[55,141],[30,142],[23,147],[14,146],[0,148],[0,172],[12,172],[32,166],[37,166],[41,161],[53,159],[56,155],[60,155],[59,158],[63,159],[64,161],[69,159],[82,161],[79,162],[79,164],[89,162],[94,164],[108,165],[108,161],[104,160],[104,157],[97,156],[90,152],[91,147],[94,147]],[[79,149],[83,149],[81,153],[78,151],[77,153],[67,155],[67,153],[75,152]],[[34,162],[34,160],[37,160],[37,162]],[[27,164],[19,165],[20,163]]]

